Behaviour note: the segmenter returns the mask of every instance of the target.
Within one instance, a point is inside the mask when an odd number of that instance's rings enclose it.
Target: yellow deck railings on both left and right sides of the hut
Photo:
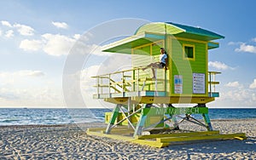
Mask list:
[[[125,93],[135,93],[143,91],[154,91],[157,95],[158,92],[166,93],[169,80],[166,76],[166,70],[155,69],[158,74],[163,71],[162,78],[150,78],[145,74],[141,68],[133,68],[125,71],[115,71],[113,73],[95,76],[96,78],[96,94],[94,98],[109,98],[112,94],[119,97],[124,97]],[[218,97],[215,85],[219,82],[215,81],[215,76],[219,74],[218,71],[208,71],[208,96]]]

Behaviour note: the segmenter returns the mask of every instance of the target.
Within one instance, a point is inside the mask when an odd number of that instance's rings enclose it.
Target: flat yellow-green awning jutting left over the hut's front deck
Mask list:
[[[131,54],[131,49],[143,44],[152,43],[158,40],[165,39],[165,34],[144,32],[139,35],[126,37],[114,43],[102,46],[103,52],[112,52],[120,54]]]

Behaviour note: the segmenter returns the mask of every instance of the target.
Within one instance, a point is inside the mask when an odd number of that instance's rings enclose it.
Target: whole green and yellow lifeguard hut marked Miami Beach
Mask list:
[[[208,115],[207,103],[219,96],[215,76],[220,73],[208,71],[208,50],[218,48],[213,41],[221,38],[200,27],[154,22],[139,27],[131,37],[103,46],[104,52],[131,54],[132,68],[94,77],[93,98],[116,106],[105,115],[106,129],[87,133],[157,147],[177,141],[244,139],[245,134],[219,134]],[[151,78],[151,71],[142,68],[159,60],[160,48],[166,49],[167,70],[153,68],[156,78]],[[193,115],[201,115],[203,121]],[[184,132],[179,126],[183,122],[206,131]]]

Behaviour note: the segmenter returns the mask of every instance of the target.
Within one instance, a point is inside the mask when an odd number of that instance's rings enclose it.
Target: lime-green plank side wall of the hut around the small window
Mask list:
[[[195,59],[183,58],[183,45],[195,46]],[[184,40],[172,39],[172,94],[174,94],[174,76],[183,76],[183,93],[193,94],[193,73],[205,73],[207,77],[207,45],[206,43],[196,43]],[[207,94],[207,80],[205,80],[205,91]]]

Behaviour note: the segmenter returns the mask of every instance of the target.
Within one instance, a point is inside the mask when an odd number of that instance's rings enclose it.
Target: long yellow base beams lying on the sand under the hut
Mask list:
[[[177,133],[177,134],[151,134],[151,135],[140,135],[133,138],[131,136],[125,136],[124,134],[120,134],[118,132],[117,134],[103,134],[103,131],[105,130],[105,128],[102,128],[102,132],[98,129],[96,129],[95,131],[94,130],[95,129],[88,129],[86,133],[89,135],[108,137],[113,140],[123,140],[131,143],[137,143],[139,145],[153,146],[157,148],[169,146],[170,144],[172,144],[172,142],[178,142],[178,141],[229,140],[229,139],[230,140],[233,140],[233,139],[246,140],[247,139],[246,134],[244,133],[219,134],[218,131]]]

